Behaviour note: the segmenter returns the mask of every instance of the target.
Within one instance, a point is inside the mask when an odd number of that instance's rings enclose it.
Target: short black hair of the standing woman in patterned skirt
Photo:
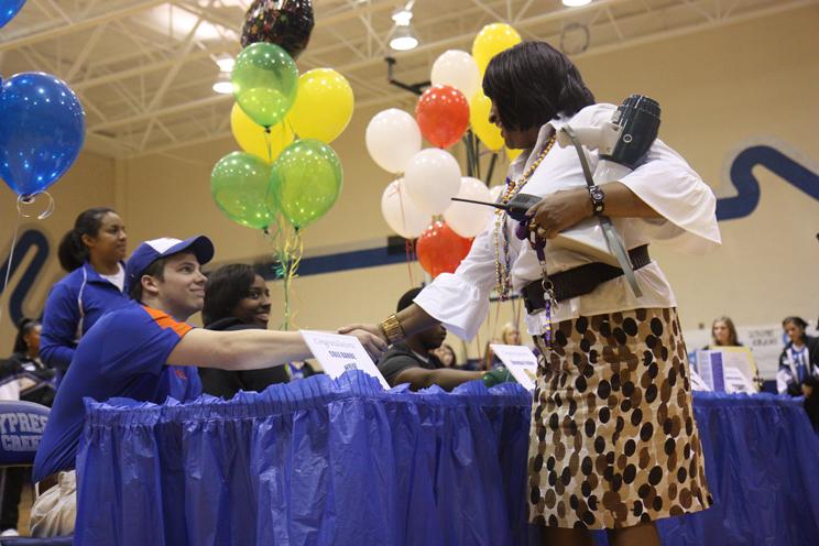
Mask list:
[[[525,131],[558,114],[574,116],[594,103],[569,57],[546,42],[521,42],[489,62],[483,92],[498,109],[503,127]]]

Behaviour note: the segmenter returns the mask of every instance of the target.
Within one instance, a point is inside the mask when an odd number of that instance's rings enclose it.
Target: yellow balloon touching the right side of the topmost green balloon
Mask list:
[[[298,78],[298,95],[287,118],[299,139],[328,144],[347,128],[353,103],[347,78],[331,68],[315,68]]]

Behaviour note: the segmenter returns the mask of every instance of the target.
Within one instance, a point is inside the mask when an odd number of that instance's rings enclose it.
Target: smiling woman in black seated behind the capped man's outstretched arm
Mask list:
[[[214,271],[205,284],[201,318],[208,330],[266,330],[270,290],[264,279],[243,263]],[[240,390],[261,392],[273,383],[286,383],[287,372],[282,365],[242,371],[200,368],[199,378],[204,392],[230,400]]]

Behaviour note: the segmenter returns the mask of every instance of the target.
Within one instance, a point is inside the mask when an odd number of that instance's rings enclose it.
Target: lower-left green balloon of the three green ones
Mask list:
[[[245,152],[232,152],[219,160],[210,173],[210,195],[222,212],[248,228],[264,229],[274,214],[265,197],[270,165]]]

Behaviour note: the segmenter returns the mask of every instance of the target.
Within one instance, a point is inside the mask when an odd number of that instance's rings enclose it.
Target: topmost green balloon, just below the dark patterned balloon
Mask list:
[[[298,68],[277,45],[256,42],[236,58],[230,83],[244,113],[262,127],[273,127],[296,100]]]

